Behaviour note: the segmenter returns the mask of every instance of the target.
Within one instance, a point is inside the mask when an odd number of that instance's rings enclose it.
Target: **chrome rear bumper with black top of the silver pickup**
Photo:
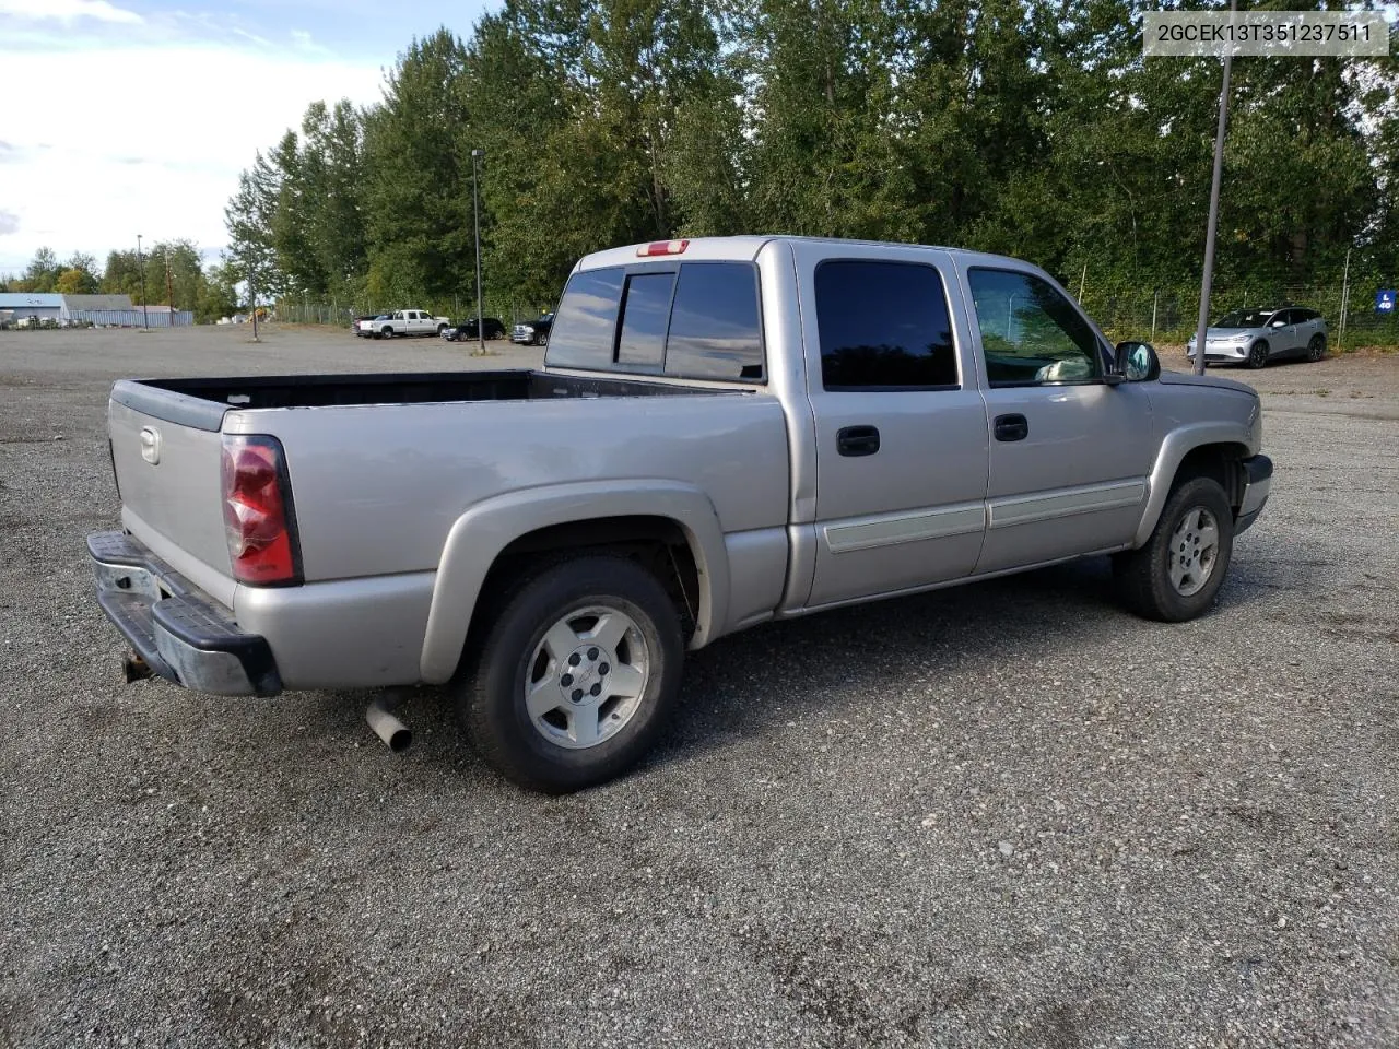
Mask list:
[[[125,531],[88,536],[102,611],[161,677],[214,695],[277,695],[271,648]]]

